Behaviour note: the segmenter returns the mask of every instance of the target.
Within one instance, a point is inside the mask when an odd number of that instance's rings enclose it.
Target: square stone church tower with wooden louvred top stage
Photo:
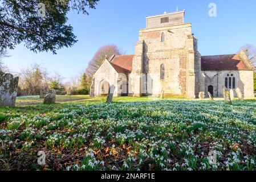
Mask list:
[[[130,96],[195,98],[200,90],[201,55],[192,24],[184,23],[185,11],[146,17],[146,28],[139,31],[132,73]],[[196,86],[197,85],[197,86]]]

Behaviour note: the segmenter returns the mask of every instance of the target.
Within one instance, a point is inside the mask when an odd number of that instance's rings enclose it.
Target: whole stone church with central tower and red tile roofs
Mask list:
[[[113,55],[94,74],[91,96],[197,98],[200,92],[222,97],[239,88],[254,97],[253,65],[243,50],[233,55],[201,56],[185,11],[146,17],[135,55]],[[110,90],[110,91],[109,91]]]

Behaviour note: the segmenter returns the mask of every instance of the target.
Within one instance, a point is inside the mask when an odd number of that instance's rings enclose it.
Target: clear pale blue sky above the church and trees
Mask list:
[[[216,3],[217,17],[210,17],[209,3]],[[5,63],[19,72],[32,63],[42,64],[50,72],[66,79],[83,71],[94,53],[105,44],[116,44],[127,54],[134,54],[140,28],[145,28],[145,16],[185,9],[185,22],[192,23],[201,55],[221,55],[238,51],[244,44],[256,46],[255,0],[100,0],[90,15],[68,14],[68,24],[78,38],[71,48],[34,53],[23,44],[9,51]]]

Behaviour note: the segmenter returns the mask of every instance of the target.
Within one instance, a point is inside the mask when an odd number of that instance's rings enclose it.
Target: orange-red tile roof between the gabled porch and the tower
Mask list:
[[[117,73],[131,73],[133,56],[134,55],[115,56],[110,64],[116,69]]]

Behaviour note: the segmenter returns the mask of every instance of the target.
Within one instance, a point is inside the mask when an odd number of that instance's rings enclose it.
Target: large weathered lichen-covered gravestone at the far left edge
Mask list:
[[[0,106],[14,107],[18,92],[19,77],[10,73],[0,76]]]

